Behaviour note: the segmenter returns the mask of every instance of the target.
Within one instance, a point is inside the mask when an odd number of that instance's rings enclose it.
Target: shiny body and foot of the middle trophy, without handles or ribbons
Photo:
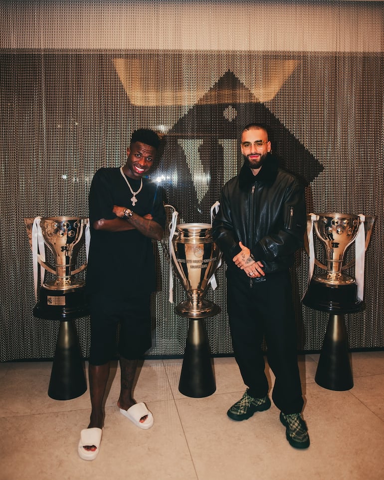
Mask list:
[[[208,223],[184,223],[176,226],[171,258],[175,273],[185,288],[188,300],[176,307],[182,317],[199,319],[216,315],[219,307],[203,300],[209,281],[221,257]]]

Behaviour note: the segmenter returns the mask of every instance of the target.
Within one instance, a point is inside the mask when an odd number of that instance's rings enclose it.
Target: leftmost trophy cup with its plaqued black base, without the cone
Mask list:
[[[24,223],[32,248],[32,227],[35,219],[25,218]],[[54,267],[45,262],[45,252],[37,255],[38,263],[55,278],[45,281],[39,291],[39,302],[34,315],[45,319],[77,318],[86,314],[85,282],[74,275],[86,268],[86,263],[75,268],[76,255],[85,236],[88,219],[83,217],[42,217],[40,232],[44,244],[53,254]]]

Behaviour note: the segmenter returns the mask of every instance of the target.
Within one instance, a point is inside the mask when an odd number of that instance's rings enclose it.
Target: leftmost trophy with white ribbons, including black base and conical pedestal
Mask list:
[[[74,276],[87,266],[76,268],[76,255],[86,240],[89,245],[88,219],[83,217],[24,218],[32,250],[36,305],[33,314],[46,320],[60,320],[56,349],[49,380],[48,395],[69,400],[87,390],[74,320],[87,315],[85,282]],[[46,260],[53,255],[54,267]],[[38,289],[38,267],[40,285]],[[45,270],[54,277],[44,281]]]

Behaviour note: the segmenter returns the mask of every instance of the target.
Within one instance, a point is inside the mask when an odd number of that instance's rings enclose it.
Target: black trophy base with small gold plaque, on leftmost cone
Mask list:
[[[44,320],[72,320],[88,315],[85,287],[71,290],[41,287],[33,315]]]

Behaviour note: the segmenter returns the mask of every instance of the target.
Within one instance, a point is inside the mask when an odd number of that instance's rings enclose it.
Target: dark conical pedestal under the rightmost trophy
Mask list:
[[[354,386],[344,315],[329,316],[315,381],[328,390],[350,390]]]

